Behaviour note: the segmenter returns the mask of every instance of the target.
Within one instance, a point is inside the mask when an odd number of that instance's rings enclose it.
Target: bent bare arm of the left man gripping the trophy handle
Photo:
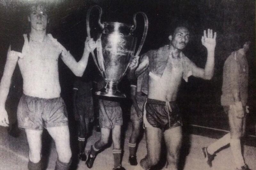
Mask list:
[[[63,62],[78,77],[83,76],[84,70],[88,63],[89,54],[91,50],[93,51],[96,47],[93,39],[87,38],[84,44],[84,53],[79,62],[76,62],[75,58],[69,52],[62,51],[61,53],[61,59]]]

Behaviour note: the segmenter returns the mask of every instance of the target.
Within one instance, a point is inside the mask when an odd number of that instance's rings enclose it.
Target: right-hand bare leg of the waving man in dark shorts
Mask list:
[[[177,170],[180,156],[180,147],[182,139],[181,126],[165,130],[164,140],[167,148],[167,168]]]

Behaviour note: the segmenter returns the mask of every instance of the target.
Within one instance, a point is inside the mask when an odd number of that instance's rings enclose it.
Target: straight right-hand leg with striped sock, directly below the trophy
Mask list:
[[[112,131],[114,168],[121,166],[121,126],[115,125]]]

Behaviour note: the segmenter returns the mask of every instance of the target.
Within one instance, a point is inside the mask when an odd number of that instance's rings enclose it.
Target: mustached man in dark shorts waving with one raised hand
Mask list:
[[[177,26],[169,35],[170,43],[157,50],[149,50],[141,56],[135,72],[138,76],[147,68],[148,99],[145,103],[143,122],[145,126],[147,155],[140,161],[144,169],[156,165],[160,159],[161,139],[164,136],[167,149],[167,168],[178,169],[182,129],[180,112],[175,102],[183,78],[189,76],[209,80],[213,76],[216,33],[204,30],[202,44],[207,49],[205,68],[197,67],[183,53],[189,41],[188,28]]]

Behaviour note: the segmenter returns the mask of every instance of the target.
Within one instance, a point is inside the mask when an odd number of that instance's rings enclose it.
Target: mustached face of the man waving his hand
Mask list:
[[[189,41],[189,31],[185,27],[178,27],[172,35],[169,36],[173,48],[182,50],[186,47]]]

